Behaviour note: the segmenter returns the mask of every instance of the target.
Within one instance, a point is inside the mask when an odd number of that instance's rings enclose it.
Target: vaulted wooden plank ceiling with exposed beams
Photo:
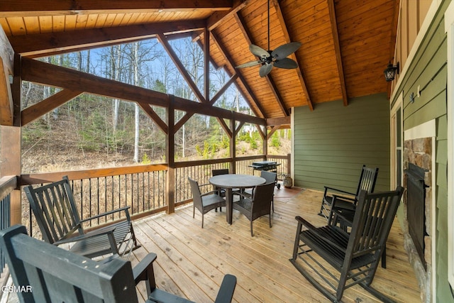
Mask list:
[[[295,70],[236,69],[267,49],[267,0],[2,0],[0,24],[28,57],[190,33],[206,43],[261,118],[289,116],[293,106],[387,92],[399,0],[270,0],[270,48],[299,41]],[[205,28],[207,30],[205,30]]]

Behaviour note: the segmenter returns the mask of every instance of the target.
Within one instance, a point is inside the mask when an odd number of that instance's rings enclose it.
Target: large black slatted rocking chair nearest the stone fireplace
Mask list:
[[[290,262],[333,302],[341,301],[344,290],[356,284],[383,302],[392,302],[370,285],[403,191],[402,187],[375,194],[362,190],[350,233],[335,224],[316,228],[297,216],[297,235]],[[303,230],[302,226],[306,228]],[[339,275],[334,275],[321,259],[338,270]]]

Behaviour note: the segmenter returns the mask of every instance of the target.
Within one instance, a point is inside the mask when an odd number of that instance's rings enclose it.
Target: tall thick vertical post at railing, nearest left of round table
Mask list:
[[[175,99],[169,95],[167,107],[167,136],[165,144],[167,160],[167,214],[175,212]]]

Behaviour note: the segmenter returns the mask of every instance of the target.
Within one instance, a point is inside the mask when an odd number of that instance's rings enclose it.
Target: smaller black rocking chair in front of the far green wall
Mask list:
[[[331,217],[331,206],[333,200],[336,199],[336,207],[338,209],[345,209],[346,211],[355,211],[356,203],[358,202],[358,195],[361,190],[366,192],[374,192],[375,182],[377,182],[378,167],[370,168],[366,165],[362,165],[360,174],[360,180],[356,192],[347,192],[342,189],[336,189],[333,187],[325,187],[323,192],[323,199],[321,200],[321,207],[319,215],[324,216],[330,224]]]

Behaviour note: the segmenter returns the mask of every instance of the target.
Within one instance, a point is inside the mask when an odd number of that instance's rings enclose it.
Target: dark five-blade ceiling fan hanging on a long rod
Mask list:
[[[275,50],[270,50],[270,0],[268,0],[268,50],[264,50],[263,48],[260,48],[260,46],[251,44],[249,46],[250,53],[259,57],[259,60],[243,63],[236,68],[262,65],[259,70],[260,77],[268,75],[273,66],[288,70],[297,68],[297,62],[287,58],[287,56],[297,51],[300,46],[300,42],[290,42],[278,46]]]

